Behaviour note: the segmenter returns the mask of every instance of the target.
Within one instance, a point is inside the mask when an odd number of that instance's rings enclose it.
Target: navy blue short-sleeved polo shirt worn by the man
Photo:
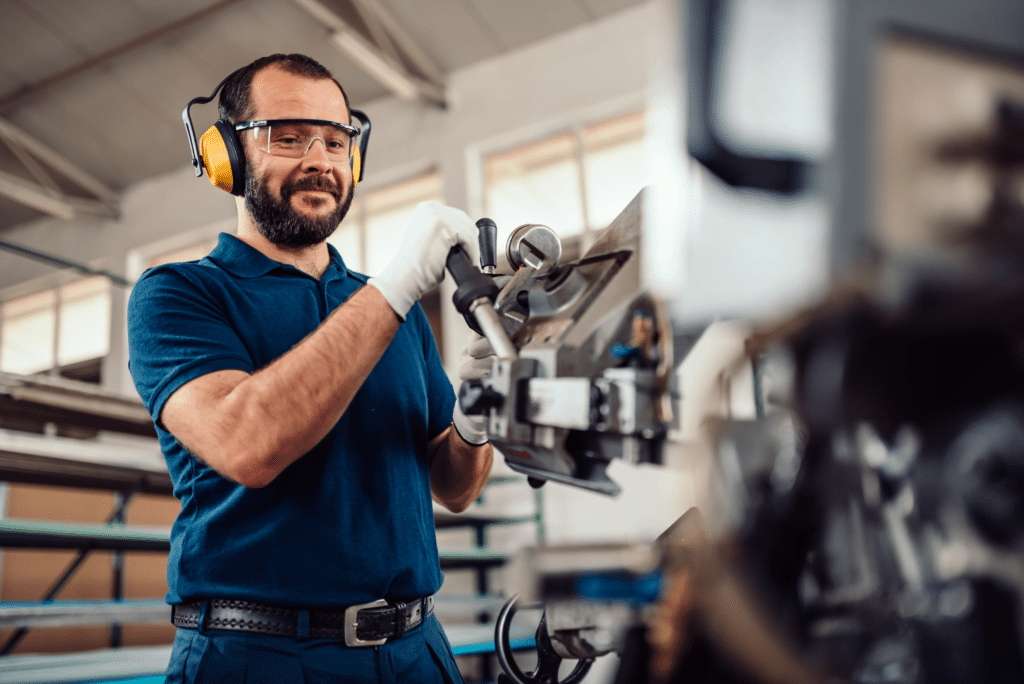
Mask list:
[[[181,501],[170,603],[338,607],[441,585],[427,444],[451,424],[455,393],[419,304],[330,433],[265,487],[222,477],[159,421],[189,380],[258,371],[364,286],[329,249],[317,281],[221,233],[209,256],[153,268],[132,291],[129,369]]]

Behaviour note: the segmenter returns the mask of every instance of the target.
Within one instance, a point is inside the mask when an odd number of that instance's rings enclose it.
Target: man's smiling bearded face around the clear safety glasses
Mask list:
[[[338,86],[273,66],[256,73],[254,119],[326,119],[348,122]],[[280,247],[300,248],[327,240],[352,202],[348,162],[332,162],[319,141],[301,159],[274,157],[243,132],[246,208],[260,233]]]

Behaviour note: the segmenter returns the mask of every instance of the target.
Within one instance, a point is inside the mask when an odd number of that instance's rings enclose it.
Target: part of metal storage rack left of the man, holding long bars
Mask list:
[[[5,425],[39,429],[47,435],[14,430],[0,430],[0,480],[46,484],[79,489],[115,493],[114,510],[105,525],[68,524],[38,520],[0,520],[0,547],[19,549],[70,549],[78,553],[49,586],[38,604],[40,614],[55,614],[62,608],[54,599],[92,552],[112,554],[111,601],[104,606],[80,604],[76,619],[93,608],[99,614],[112,614],[124,622],[135,622],[131,606],[115,605],[124,598],[124,557],[126,552],[166,553],[168,529],[128,527],[125,511],[137,494],[171,495],[171,480],[160,448],[154,440],[141,445],[111,443],[95,439],[75,439],[53,433],[96,434],[99,430],[135,436],[155,437],[148,412],[137,397],[129,397],[84,382],[50,376],[18,376],[0,373],[0,415]],[[146,608],[150,609],[148,607]],[[30,616],[13,604],[3,604],[0,611],[10,613],[10,621],[24,619],[0,645],[6,655],[20,642],[29,629],[40,626],[38,616]],[[110,645],[121,645],[121,622],[111,625]],[[9,622],[9,621],[8,621]],[[45,621],[44,621],[45,622]],[[95,623],[93,623],[95,624]]]

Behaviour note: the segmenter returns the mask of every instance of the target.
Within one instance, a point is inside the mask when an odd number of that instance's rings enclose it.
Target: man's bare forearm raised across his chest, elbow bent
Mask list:
[[[365,287],[257,373],[184,385],[168,400],[164,424],[222,474],[266,484],[338,422],[399,325],[380,292]]]

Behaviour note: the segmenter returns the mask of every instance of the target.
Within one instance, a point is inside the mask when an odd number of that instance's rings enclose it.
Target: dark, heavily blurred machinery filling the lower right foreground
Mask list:
[[[1024,681],[1024,105],[934,154],[992,173],[963,257],[755,334],[759,415],[715,423],[711,520],[524,552],[546,615],[512,681],[611,651],[622,682]]]

